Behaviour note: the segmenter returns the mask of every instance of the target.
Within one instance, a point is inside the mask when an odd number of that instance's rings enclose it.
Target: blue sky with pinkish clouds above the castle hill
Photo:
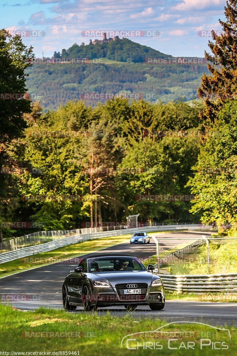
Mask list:
[[[204,57],[211,39],[205,35],[221,30],[225,4],[225,0],[1,0],[0,27],[35,31],[29,34],[37,37],[22,38],[34,47],[36,57],[42,52],[52,57],[74,43],[102,39],[85,37],[83,31],[156,31],[156,36],[127,38],[174,57]]]

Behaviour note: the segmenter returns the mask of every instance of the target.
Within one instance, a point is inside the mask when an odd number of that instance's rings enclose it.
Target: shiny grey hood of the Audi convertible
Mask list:
[[[93,275],[93,277],[92,277]],[[147,283],[148,286],[151,284],[153,279],[158,276],[147,271],[115,271],[115,272],[99,272],[99,273],[88,273],[88,278],[97,281],[109,281],[113,287],[118,283]]]

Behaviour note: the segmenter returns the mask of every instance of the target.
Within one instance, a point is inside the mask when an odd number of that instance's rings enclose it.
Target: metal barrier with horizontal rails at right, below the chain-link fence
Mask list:
[[[155,269],[157,272],[157,269]],[[237,273],[229,274],[201,274],[177,275],[159,274],[166,290],[177,292],[210,293],[232,292],[237,293]]]

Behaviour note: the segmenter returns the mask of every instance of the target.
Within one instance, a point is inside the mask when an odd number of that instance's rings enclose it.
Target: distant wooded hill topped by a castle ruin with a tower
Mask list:
[[[192,100],[197,98],[201,75],[208,72],[206,64],[145,63],[146,57],[171,56],[126,39],[87,46],[75,44],[68,51],[55,54],[67,56],[91,60],[87,64],[33,64],[27,70],[28,93],[40,97],[45,109],[56,109],[70,100],[84,100],[88,93],[101,94],[98,99],[85,100],[86,105],[92,106],[106,100],[103,94],[117,93],[139,94],[139,98],[153,103]]]

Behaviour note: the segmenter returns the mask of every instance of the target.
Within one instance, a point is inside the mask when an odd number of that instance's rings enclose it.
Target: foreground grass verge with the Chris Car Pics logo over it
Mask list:
[[[157,317],[162,312],[157,312]],[[136,347],[136,342],[143,345],[144,342],[150,342],[152,345],[162,345],[162,350],[159,349],[145,349],[139,347],[137,350],[129,350],[126,348],[126,340],[121,341],[124,336],[140,333],[144,331],[152,331],[167,324],[165,320],[157,318],[139,318],[134,313],[128,313],[124,317],[112,316],[109,312],[107,314],[99,315],[97,313],[86,313],[80,311],[78,313],[66,313],[64,310],[50,310],[38,309],[35,312],[19,312],[0,305],[0,350],[5,352],[11,351],[27,351],[27,352],[72,352],[78,351],[80,355],[84,356],[126,356],[126,355],[235,355],[237,346],[237,329],[235,327],[223,327],[221,329],[229,329],[230,336],[227,330],[218,330],[210,326],[202,324],[175,324],[167,325],[161,329],[163,332],[174,333],[174,331],[189,331],[186,336],[180,337],[174,334],[156,334],[160,336],[157,338],[145,337],[141,338],[139,335],[130,336],[129,339],[136,339],[136,341],[129,341],[129,347]],[[208,323],[207,323],[208,324]],[[81,337],[32,337],[34,332],[38,332],[38,336],[47,332],[61,333],[75,333]],[[26,334],[27,333],[27,334]],[[202,334],[201,334],[202,333]],[[24,337],[24,336],[31,337]],[[52,335],[52,334],[51,334]],[[54,334],[55,335],[55,334]],[[56,334],[59,336],[59,334]],[[73,335],[73,334],[72,334]],[[184,334],[181,334],[181,336]],[[63,335],[61,335],[63,336]],[[163,336],[163,337],[162,337]],[[171,347],[179,347],[187,342],[194,343],[193,349],[185,350],[184,346],[178,350],[168,349],[168,339],[178,339],[171,341]],[[203,347],[200,350],[201,338],[210,339],[211,342],[225,342],[228,345],[228,350],[212,350],[212,344]],[[207,343],[207,341],[205,341]],[[146,345],[146,344],[144,344]],[[151,345],[151,344],[149,344]],[[217,344],[220,347],[221,344]],[[161,346],[160,346],[161,347]],[[66,355],[61,353],[61,355]]]

